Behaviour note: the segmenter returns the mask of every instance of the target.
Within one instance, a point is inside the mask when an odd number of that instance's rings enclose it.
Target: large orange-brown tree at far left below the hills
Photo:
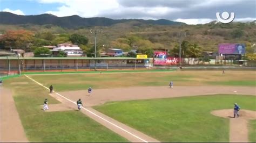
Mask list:
[[[25,49],[32,41],[33,34],[26,30],[7,31],[0,39],[5,47]]]

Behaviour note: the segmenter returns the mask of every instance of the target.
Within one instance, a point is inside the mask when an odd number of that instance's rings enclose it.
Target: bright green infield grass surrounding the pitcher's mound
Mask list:
[[[239,103],[241,109],[256,110],[256,97],[247,95],[110,102],[94,108],[160,141],[228,141],[229,119],[210,112],[232,109],[233,103]],[[250,140],[255,141],[255,121],[252,124]]]

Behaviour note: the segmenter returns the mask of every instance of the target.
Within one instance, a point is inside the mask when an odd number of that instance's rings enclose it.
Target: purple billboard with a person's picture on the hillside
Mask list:
[[[219,54],[245,54],[245,44],[219,44]]]

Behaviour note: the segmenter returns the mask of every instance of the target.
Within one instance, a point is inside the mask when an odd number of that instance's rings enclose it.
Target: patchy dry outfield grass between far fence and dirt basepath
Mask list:
[[[128,73],[87,73],[87,74],[31,74],[33,79],[46,87],[51,84],[57,91],[120,88],[137,86],[174,85],[238,85],[256,86],[256,71],[166,71]]]

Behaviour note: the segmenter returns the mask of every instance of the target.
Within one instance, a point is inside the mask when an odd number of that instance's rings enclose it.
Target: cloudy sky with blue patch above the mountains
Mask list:
[[[0,0],[0,11],[17,15],[50,13],[63,17],[168,19],[186,24],[217,20],[216,12],[235,13],[234,21],[256,20],[256,0]]]

